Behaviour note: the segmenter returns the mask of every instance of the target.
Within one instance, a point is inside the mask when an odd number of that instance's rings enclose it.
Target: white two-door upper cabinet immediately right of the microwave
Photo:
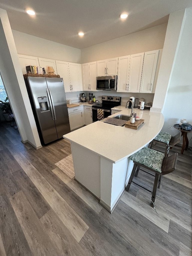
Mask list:
[[[119,57],[117,92],[140,92],[144,53]]]

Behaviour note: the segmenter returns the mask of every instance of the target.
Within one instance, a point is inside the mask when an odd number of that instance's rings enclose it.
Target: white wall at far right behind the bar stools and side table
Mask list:
[[[192,9],[186,9],[186,21],[164,105],[163,131],[175,135],[173,125],[184,118],[192,124]],[[192,134],[188,133],[190,139]],[[190,141],[192,146],[192,140]]]

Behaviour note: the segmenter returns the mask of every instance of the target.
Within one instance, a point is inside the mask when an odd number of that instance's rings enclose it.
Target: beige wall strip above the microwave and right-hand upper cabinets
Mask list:
[[[81,50],[81,63],[162,49],[167,23]]]

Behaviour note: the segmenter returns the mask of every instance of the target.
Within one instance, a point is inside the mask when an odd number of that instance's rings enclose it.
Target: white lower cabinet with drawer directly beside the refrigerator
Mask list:
[[[71,131],[85,124],[83,106],[68,108],[68,114]]]

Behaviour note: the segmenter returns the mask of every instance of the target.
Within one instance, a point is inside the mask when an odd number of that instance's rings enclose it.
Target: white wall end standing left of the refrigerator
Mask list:
[[[0,9],[0,72],[23,141],[41,147],[7,12]]]

